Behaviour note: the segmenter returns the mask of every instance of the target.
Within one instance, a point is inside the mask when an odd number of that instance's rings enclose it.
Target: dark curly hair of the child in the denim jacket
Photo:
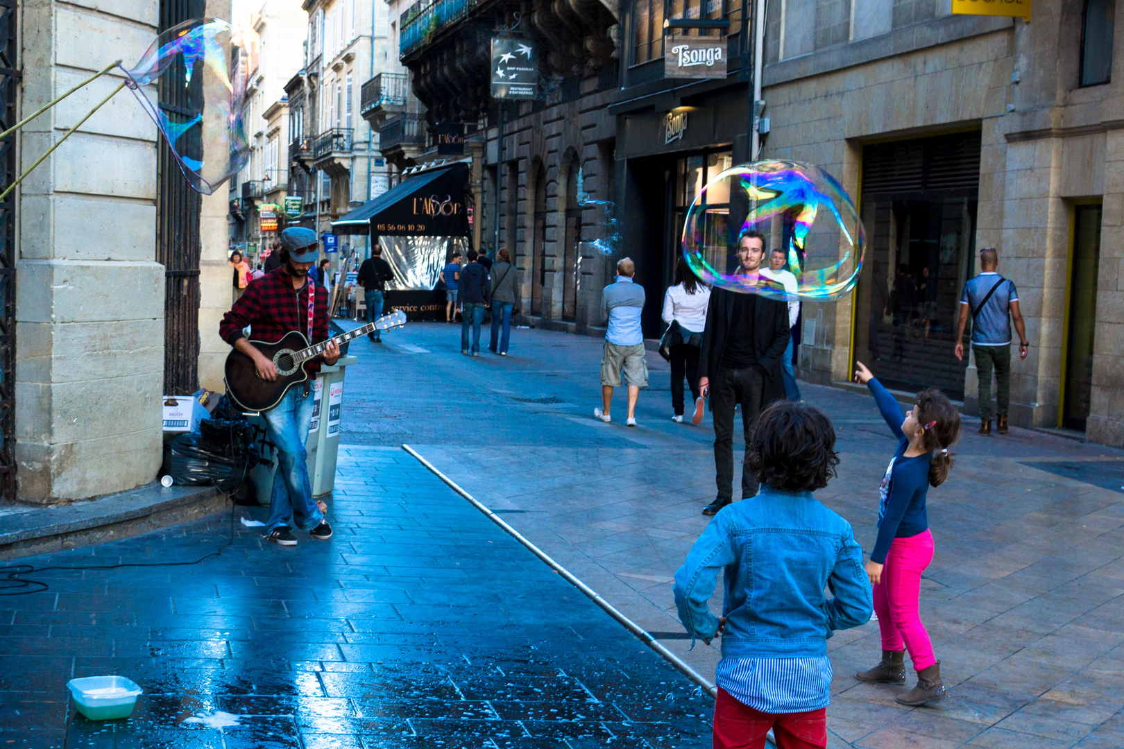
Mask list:
[[[819,409],[777,401],[753,428],[745,469],[762,484],[785,492],[810,492],[836,475],[835,428]]]

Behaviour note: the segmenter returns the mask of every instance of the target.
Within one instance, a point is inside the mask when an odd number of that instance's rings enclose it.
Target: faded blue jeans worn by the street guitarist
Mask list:
[[[262,413],[266,439],[278,446],[278,469],[273,474],[273,497],[270,503],[270,521],[265,523],[266,533],[272,533],[279,526],[312,530],[324,520],[324,514],[312,501],[312,487],[308,481],[305,441],[312,423],[311,381],[308,384],[308,395],[305,395],[303,385],[294,385],[280,403]],[[323,417],[320,422],[327,423]]]

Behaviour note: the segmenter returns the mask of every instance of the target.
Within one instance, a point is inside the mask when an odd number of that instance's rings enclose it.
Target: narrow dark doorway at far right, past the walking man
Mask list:
[[[1069,310],[1062,372],[1061,426],[1085,431],[1093,392],[1093,334],[1097,319],[1097,267],[1100,263],[1100,205],[1073,207],[1073,247],[1069,261]]]

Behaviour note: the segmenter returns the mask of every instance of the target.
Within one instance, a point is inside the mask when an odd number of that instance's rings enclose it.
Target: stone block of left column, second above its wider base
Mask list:
[[[53,156],[55,190],[156,200],[156,146],[75,133]]]

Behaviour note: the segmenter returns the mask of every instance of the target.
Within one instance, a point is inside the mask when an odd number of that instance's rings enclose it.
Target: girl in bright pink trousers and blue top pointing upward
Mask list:
[[[960,437],[960,413],[944,393],[930,389],[917,393],[917,404],[903,418],[897,400],[862,362],[855,362],[854,378],[870,387],[878,410],[899,440],[879,486],[878,540],[867,563],[882,633],[882,660],[855,676],[874,684],[904,684],[904,651],[908,649],[917,686],[898,695],[897,701],[923,705],[944,696],[941,661],[933,657],[933,645],[918,613],[921,576],[933,561],[925,495],[930,485],[940,486],[949,476],[949,447]]]

